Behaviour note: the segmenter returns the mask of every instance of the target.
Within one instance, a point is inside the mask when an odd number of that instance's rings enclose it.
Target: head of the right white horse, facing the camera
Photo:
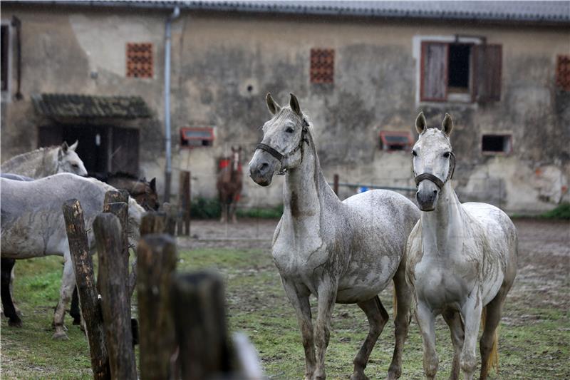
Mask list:
[[[446,113],[441,129],[428,129],[425,116],[420,112],[415,119],[415,129],[420,134],[412,150],[415,183],[418,186],[415,199],[420,210],[433,211],[440,191],[455,169],[455,155],[450,143],[453,120]]]

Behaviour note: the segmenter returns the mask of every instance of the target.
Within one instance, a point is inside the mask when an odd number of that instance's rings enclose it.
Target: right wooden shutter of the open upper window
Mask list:
[[[475,45],[473,56],[475,58],[475,100],[482,103],[500,101],[502,46]]]

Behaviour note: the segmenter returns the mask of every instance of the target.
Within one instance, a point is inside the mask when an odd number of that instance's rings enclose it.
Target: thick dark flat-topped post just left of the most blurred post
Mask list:
[[[145,215],[143,220],[151,217]],[[170,281],[176,267],[176,242],[166,234],[145,235],[138,244],[137,256],[140,378],[169,379],[170,356],[175,350]]]

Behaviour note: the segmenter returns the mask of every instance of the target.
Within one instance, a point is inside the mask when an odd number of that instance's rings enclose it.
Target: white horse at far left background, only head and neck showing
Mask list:
[[[25,175],[31,178],[43,178],[57,173],[87,175],[83,161],[76,153],[78,141],[68,146],[39,148],[31,152],[16,155],[1,165],[2,173]]]

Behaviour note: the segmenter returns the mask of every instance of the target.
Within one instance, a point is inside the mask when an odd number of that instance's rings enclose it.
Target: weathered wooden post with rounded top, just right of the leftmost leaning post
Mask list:
[[[133,334],[130,322],[130,294],[126,285],[128,267],[120,257],[122,230],[118,217],[103,212],[93,222],[99,257],[99,289],[105,322],[111,379],[137,379]]]

